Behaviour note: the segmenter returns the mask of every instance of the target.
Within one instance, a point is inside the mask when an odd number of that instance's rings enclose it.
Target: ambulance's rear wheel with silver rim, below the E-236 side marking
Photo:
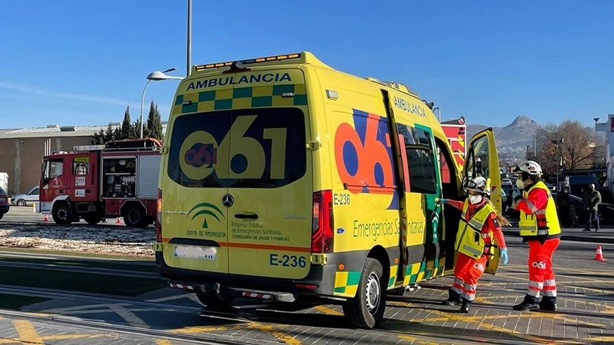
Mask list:
[[[384,270],[374,258],[367,258],[360,274],[356,296],[343,304],[348,322],[358,328],[373,328],[384,318],[386,309]]]

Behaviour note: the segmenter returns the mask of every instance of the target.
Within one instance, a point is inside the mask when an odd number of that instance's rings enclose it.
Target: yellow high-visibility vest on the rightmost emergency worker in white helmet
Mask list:
[[[548,203],[546,209],[538,210],[534,204],[530,203],[527,199],[529,193],[534,189],[543,189],[548,193]],[[558,235],[561,233],[561,225],[559,224],[559,217],[556,214],[556,206],[554,205],[554,199],[550,194],[548,186],[542,181],[538,181],[529,190],[524,192],[524,201],[529,206],[529,209],[533,211],[533,214],[526,214],[524,211],[520,211],[520,221],[518,227],[520,228],[520,236],[538,236],[538,235]]]

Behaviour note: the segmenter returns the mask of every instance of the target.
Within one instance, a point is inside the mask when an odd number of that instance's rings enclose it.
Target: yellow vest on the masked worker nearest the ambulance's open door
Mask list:
[[[484,254],[484,248],[486,248],[486,242],[484,237],[490,236],[492,239],[492,231],[488,234],[482,233],[484,223],[488,219],[488,216],[495,212],[495,209],[491,204],[486,203],[481,207],[473,217],[467,220],[467,209],[469,208],[469,201],[465,200],[465,204],[462,207],[461,221],[459,222],[459,232],[456,235],[456,244],[454,249],[457,252],[467,255],[472,258],[480,258]],[[491,249],[492,250],[492,249]]]

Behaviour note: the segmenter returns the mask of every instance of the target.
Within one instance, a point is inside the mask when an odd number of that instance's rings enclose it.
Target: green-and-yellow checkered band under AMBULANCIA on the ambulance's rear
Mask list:
[[[294,96],[282,97],[293,93]],[[190,101],[188,103],[188,101]],[[184,104],[185,103],[185,104]],[[175,114],[257,107],[306,106],[305,84],[262,85],[186,93],[175,99]]]

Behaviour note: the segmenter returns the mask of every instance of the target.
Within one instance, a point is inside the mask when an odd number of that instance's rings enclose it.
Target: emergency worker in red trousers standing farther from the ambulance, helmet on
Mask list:
[[[513,308],[555,311],[552,255],[561,242],[561,225],[554,199],[542,181],[542,167],[537,162],[525,161],[513,172],[520,175],[516,185],[523,190],[523,196],[514,205],[520,211],[518,228],[523,242],[529,244],[529,288],[524,300]],[[543,295],[541,300],[540,295]]]

